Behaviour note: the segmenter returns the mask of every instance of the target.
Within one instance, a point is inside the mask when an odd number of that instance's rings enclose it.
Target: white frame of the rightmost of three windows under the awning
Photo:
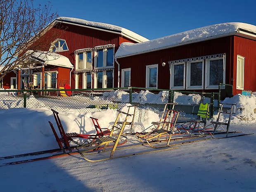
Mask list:
[[[205,59],[205,87],[204,89],[218,89],[219,85],[209,85],[210,84],[210,61],[213,60],[220,60],[223,59],[223,84],[225,84],[225,74],[226,74],[226,57],[216,57],[216,58],[211,58],[211,59]]]

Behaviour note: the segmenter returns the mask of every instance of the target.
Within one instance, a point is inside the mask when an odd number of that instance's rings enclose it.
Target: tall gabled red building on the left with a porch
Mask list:
[[[64,84],[71,88],[117,87],[119,66],[114,54],[119,45],[147,40],[119,26],[59,17],[42,31],[40,38],[31,42],[29,50],[24,50],[31,53],[34,64],[19,66],[17,76],[12,78],[17,78],[18,89],[27,83],[44,89]],[[6,76],[5,80],[11,81],[8,78],[11,77]],[[5,80],[3,87],[10,88],[10,83],[4,85]]]

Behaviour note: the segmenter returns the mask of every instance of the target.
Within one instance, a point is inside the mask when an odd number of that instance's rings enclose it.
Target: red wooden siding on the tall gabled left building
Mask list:
[[[74,26],[71,24],[61,24],[61,26],[59,25],[55,26],[51,28],[49,31],[47,31],[31,47],[44,44],[47,46],[42,47],[43,50],[48,51],[50,47],[50,43],[57,38],[66,40],[66,44],[69,48],[68,51],[57,52],[57,53],[69,58],[73,66],[75,66],[75,63],[76,63],[75,54],[74,54],[75,50],[83,49],[83,48],[93,48],[95,46],[100,46],[100,45],[114,44],[115,52],[116,52],[120,43],[123,43],[123,42],[135,43],[133,40],[124,38],[119,34],[110,33],[106,31],[99,31],[96,29],[86,28],[81,26]],[[61,81],[60,78],[62,78],[63,80],[69,79],[69,73],[66,73],[66,72],[64,73],[65,75],[64,74],[60,75],[60,73],[58,74],[59,82]],[[114,87],[117,87],[117,76],[118,76],[118,66],[115,63]],[[73,72],[71,73],[71,88],[75,88],[75,75]]]

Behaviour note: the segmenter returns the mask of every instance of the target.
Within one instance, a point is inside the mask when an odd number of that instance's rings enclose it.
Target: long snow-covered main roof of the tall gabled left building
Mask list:
[[[77,18],[72,18],[72,17],[58,17],[57,19],[55,19],[55,21],[62,22],[62,23],[74,24],[74,25],[80,25],[83,27],[94,28],[94,29],[101,30],[101,31],[108,31],[111,33],[118,33],[123,36],[126,36],[127,38],[135,40],[138,43],[148,41],[147,38],[142,37],[142,36],[138,35],[137,33],[134,33],[133,31],[130,31],[126,28],[122,28],[122,27],[119,27],[116,25],[104,24],[104,23],[99,23],[99,22],[94,22],[94,21],[87,21],[84,19],[77,19]]]

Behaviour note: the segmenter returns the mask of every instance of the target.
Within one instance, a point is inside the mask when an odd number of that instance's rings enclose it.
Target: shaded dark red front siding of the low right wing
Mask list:
[[[130,68],[131,86],[145,87],[146,85],[146,66],[158,64],[158,88],[170,88],[170,71],[168,61],[200,57],[206,55],[215,55],[226,53],[226,71],[231,68],[231,48],[232,37],[223,37],[213,40],[207,40],[178,47],[172,47],[164,50],[149,52],[141,55],[134,55],[118,59],[120,68]],[[166,66],[161,64],[165,62]],[[230,84],[232,74],[226,72],[226,83]],[[199,90],[202,91],[202,90]],[[209,90],[205,90],[209,91]]]

